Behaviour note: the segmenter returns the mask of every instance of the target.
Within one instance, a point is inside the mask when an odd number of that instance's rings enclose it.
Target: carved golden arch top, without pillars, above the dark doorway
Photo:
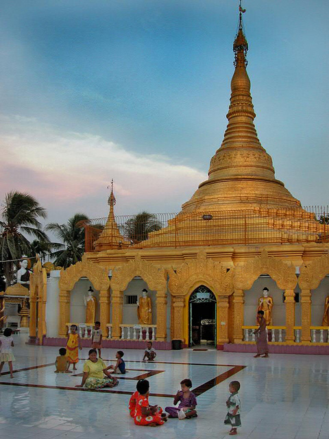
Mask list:
[[[173,296],[185,296],[199,285],[206,284],[215,296],[229,296],[233,292],[233,270],[227,272],[221,262],[207,258],[204,249],[195,259],[184,262],[176,271],[169,269],[169,290]]]

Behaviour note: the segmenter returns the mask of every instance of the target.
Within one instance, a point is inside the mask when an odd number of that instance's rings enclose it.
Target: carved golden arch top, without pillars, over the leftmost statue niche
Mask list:
[[[70,265],[66,270],[63,268],[60,270],[60,289],[71,291],[75,283],[84,276],[87,277],[99,291],[106,290],[110,287],[107,270],[96,263],[89,262],[86,255],[84,255],[82,261]]]

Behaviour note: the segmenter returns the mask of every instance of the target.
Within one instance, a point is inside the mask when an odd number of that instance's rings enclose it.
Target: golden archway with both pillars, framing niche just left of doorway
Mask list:
[[[120,337],[122,322],[123,292],[128,283],[141,276],[150,289],[156,291],[156,339],[167,340],[167,272],[164,268],[145,261],[140,254],[112,272],[112,336]]]

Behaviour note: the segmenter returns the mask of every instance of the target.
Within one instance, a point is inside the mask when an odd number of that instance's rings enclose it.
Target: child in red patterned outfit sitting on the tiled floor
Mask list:
[[[136,399],[136,410],[134,416],[134,423],[136,425],[148,425],[149,427],[156,427],[164,424],[167,416],[162,416],[160,407],[157,405],[149,405],[149,381],[147,379],[140,379],[136,385],[138,396]]]

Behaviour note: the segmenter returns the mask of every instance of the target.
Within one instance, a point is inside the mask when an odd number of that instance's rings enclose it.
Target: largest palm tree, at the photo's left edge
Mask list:
[[[23,254],[31,254],[31,243],[26,235],[45,242],[49,239],[42,230],[39,218],[46,218],[46,209],[28,193],[11,191],[5,195],[0,221],[0,255],[5,272],[6,287],[14,278],[14,261]]]

